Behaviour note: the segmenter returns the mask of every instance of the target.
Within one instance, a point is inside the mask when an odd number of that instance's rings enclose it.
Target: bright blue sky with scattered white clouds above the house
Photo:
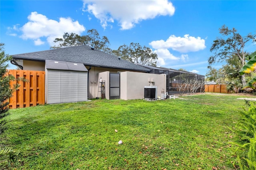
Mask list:
[[[158,66],[205,75],[218,29],[256,34],[255,9],[254,0],[1,0],[0,42],[10,55],[42,51],[64,32],[94,28],[111,49],[140,43],[158,54]],[[255,50],[253,43],[246,47]]]

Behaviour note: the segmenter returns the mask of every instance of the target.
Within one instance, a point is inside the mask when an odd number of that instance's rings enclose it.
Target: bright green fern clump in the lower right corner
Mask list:
[[[237,162],[241,170],[256,170],[256,103],[246,101],[248,110],[240,112],[235,132],[240,138],[237,147]]]

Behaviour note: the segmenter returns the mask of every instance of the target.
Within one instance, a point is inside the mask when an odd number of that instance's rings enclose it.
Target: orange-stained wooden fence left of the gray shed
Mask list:
[[[18,81],[20,87],[9,99],[9,108],[22,108],[45,104],[45,72],[30,70],[9,70],[8,75],[14,77],[24,77],[28,82]],[[16,82],[11,82],[13,85]]]

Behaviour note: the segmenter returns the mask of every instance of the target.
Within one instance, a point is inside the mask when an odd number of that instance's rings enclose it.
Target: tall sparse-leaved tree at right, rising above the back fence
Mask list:
[[[246,55],[248,54],[244,50],[244,47],[246,47],[247,43],[255,41],[256,35],[248,34],[247,36],[242,37],[237,33],[235,28],[230,30],[225,25],[223,25],[219,30],[223,38],[217,38],[214,40],[214,43],[210,48],[210,51],[214,52],[214,55],[209,57],[209,65],[216,62],[227,61],[227,59],[230,58],[237,58],[241,67],[243,67],[246,63]],[[245,75],[242,75],[240,78],[242,84],[245,85]]]

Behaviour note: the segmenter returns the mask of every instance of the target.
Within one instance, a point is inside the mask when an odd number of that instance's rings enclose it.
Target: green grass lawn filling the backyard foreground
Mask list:
[[[228,127],[244,106],[238,97],[99,99],[12,109],[0,146],[23,154],[15,163],[0,162],[0,169],[235,169],[229,142],[238,138]]]

